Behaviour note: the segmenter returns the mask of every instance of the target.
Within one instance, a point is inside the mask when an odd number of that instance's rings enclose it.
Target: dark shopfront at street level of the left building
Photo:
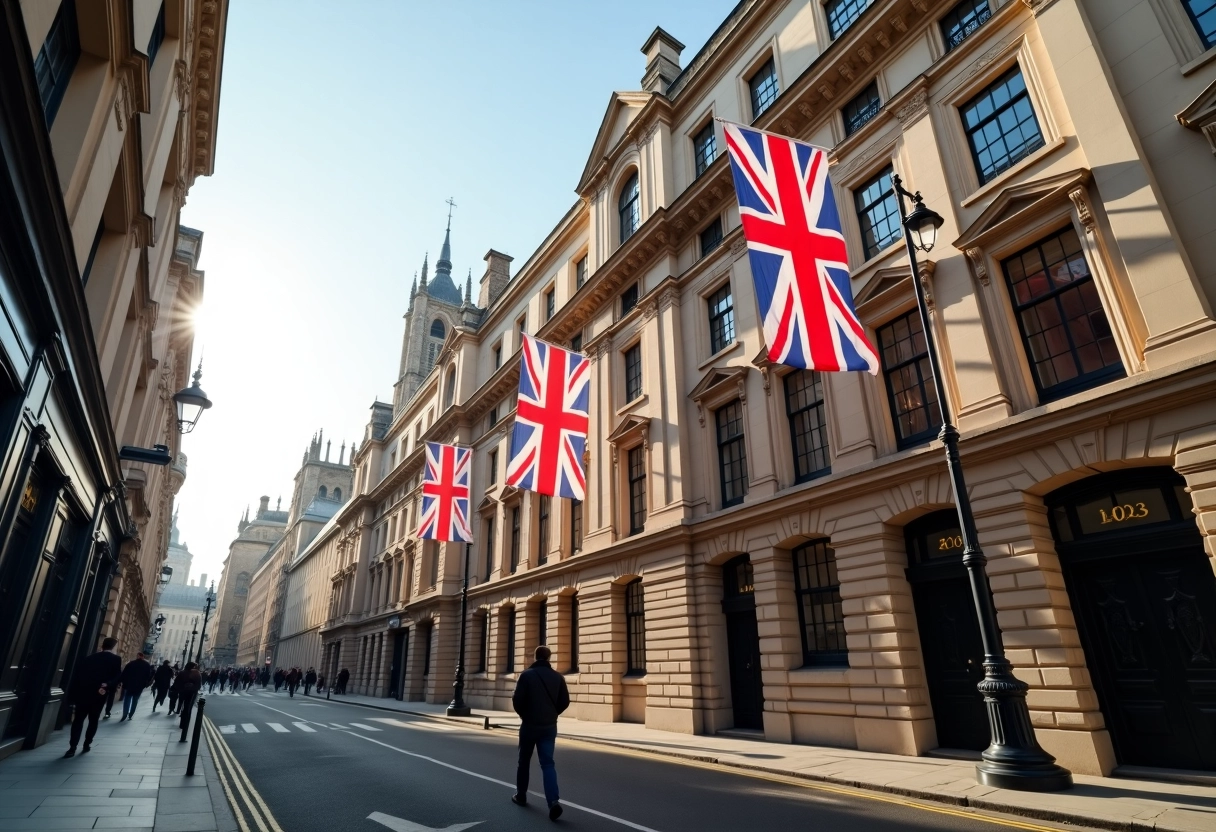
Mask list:
[[[29,46],[0,13],[0,758],[67,715],[130,528]]]

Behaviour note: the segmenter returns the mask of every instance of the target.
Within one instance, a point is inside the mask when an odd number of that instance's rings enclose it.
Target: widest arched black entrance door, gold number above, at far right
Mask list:
[[[1048,497],[1119,761],[1216,769],[1216,578],[1183,480],[1104,474]]]

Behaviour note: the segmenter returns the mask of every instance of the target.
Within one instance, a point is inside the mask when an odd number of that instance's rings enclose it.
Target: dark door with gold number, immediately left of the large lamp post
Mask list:
[[[907,525],[906,538],[938,744],[983,751],[990,740],[987,713],[975,686],[984,679],[984,643],[963,567],[958,515],[952,508],[928,515]]]

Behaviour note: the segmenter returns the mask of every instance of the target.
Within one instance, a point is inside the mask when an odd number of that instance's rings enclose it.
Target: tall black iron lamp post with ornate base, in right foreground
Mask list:
[[[980,637],[984,642],[984,680],[978,685],[984,695],[987,709],[991,744],[984,752],[983,759],[975,766],[976,777],[985,786],[1014,788],[1030,792],[1054,792],[1073,786],[1073,775],[1068,769],[1055,765],[1055,758],[1038,746],[1034,726],[1030,724],[1030,709],[1026,707],[1026,682],[1013,675],[1013,665],[1004,657],[1004,645],[1001,642],[1001,628],[997,626],[996,608],[992,603],[992,588],[989,585],[984,564],[987,558],[979,545],[975,530],[975,517],[972,502],[967,495],[967,483],[963,479],[963,463],[958,455],[958,428],[951,422],[950,404],[946,399],[946,387],[942,381],[941,365],[938,360],[938,347],[933,338],[929,322],[929,309],[924,299],[924,287],[921,285],[919,264],[916,252],[929,252],[938,240],[941,217],[928,208],[921,193],[905,190],[899,175],[891,178],[900,203],[900,220],[903,223],[903,242],[907,246],[908,262],[912,266],[912,287],[916,291],[917,309],[921,311],[921,326],[924,330],[925,349],[933,367],[933,386],[938,394],[938,406],[941,409],[941,432],[938,438],[946,446],[946,468],[950,473],[955,504],[958,507],[958,524],[963,536],[963,566],[972,585],[972,601],[975,603],[975,615],[980,623]],[[913,202],[908,214],[903,199]]]

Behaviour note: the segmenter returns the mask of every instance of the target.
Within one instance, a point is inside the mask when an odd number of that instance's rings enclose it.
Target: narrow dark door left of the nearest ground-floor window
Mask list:
[[[747,555],[722,567],[722,596],[734,727],[762,730],[760,633],[756,629],[756,596],[751,581],[751,562]]]

